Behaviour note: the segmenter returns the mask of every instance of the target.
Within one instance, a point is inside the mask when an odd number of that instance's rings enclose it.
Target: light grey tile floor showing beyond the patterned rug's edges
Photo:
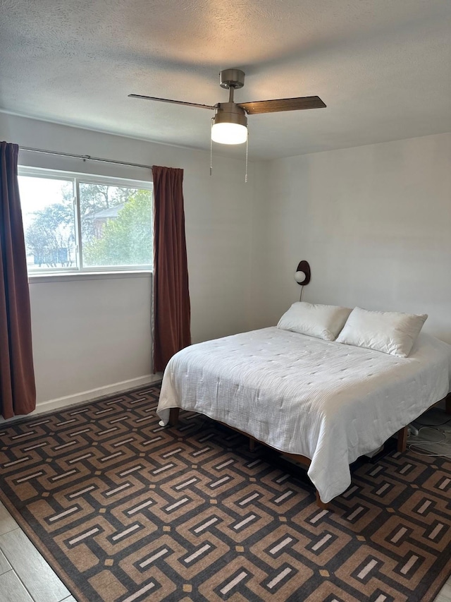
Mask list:
[[[418,437],[409,438],[409,443],[421,439],[437,440],[440,443],[431,447],[431,452],[450,454],[451,422],[442,424],[448,418],[444,411],[433,409],[430,412],[420,420],[439,425],[440,431],[420,431]],[[421,425],[415,423],[415,426]],[[76,602],[1,502],[0,602]],[[451,577],[435,602],[451,602]]]

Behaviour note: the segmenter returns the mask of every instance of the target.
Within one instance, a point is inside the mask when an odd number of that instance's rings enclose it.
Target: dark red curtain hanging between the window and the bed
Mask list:
[[[183,210],[183,169],[152,168],[154,176],[154,371],[191,344],[190,291]]]

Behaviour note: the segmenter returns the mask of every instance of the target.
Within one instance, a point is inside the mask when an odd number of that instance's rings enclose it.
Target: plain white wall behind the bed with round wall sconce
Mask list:
[[[311,265],[304,301],[428,313],[451,342],[451,134],[266,164],[254,241],[253,325],[299,300],[293,274]]]

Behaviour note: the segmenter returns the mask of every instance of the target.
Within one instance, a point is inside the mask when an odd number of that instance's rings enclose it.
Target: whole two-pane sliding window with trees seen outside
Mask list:
[[[29,273],[152,268],[152,184],[19,169]]]

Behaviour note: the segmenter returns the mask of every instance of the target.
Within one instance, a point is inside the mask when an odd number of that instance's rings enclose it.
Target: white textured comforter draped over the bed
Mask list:
[[[323,502],[350,485],[350,463],[450,390],[451,346],[421,334],[407,359],[276,327],[175,354],[157,413],[196,411],[311,459]]]

